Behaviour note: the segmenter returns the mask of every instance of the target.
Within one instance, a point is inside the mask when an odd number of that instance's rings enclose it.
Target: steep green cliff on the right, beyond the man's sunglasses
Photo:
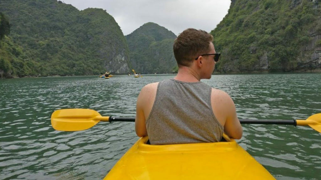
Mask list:
[[[211,34],[219,72],[320,68],[321,8],[311,0],[232,0]]]

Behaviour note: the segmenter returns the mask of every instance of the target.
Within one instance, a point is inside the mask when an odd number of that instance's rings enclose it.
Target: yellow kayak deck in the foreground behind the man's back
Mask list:
[[[150,145],[140,138],[104,180],[275,179],[234,139],[227,142]]]

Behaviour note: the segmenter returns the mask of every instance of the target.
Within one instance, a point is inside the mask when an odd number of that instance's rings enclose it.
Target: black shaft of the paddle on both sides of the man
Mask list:
[[[293,125],[297,126],[297,121],[293,120],[271,120],[271,119],[239,119],[241,124],[279,124],[279,125]],[[109,117],[109,122],[135,122],[133,117]]]

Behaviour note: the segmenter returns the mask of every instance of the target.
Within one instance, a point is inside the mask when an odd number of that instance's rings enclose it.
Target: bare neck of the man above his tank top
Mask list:
[[[174,79],[183,82],[199,82],[201,80],[199,74],[193,68],[187,66],[179,67]]]

